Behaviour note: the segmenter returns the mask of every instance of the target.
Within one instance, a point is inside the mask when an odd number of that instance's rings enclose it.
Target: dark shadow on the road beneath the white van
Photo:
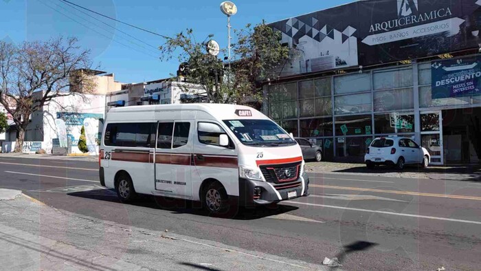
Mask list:
[[[81,191],[74,193],[67,193],[74,197],[83,197],[87,199],[102,200],[105,202],[115,202],[118,204],[120,200],[113,189],[96,189],[91,191]],[[172,199],[168,197],[155,197],[150,195],[142,195],[131,203],[133,206],[140,206],[145,208],[153,208],[159,210],[169,210],[173,214],[190,214],[209,216],[205,210],[203,210],[200,202],[192,202],[184,199]],[[223,219],[236,219],[236,220],[253,220],[263,217],[270,217],[273,215],[280,215],[283,213],[289,213],[293,210],[297,210],[298,207],[272,204],[269,206],[258,206],[257,208],[246,208],[242,206],[232,206],[227,213],[216,215],[216,217]]]

